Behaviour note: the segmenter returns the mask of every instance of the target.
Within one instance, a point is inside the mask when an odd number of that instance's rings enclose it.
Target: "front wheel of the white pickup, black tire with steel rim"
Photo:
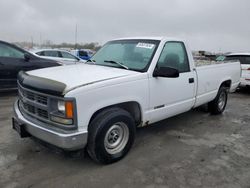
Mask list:
[[[116,140],[114,143],[119,143],[120,138],[119,136],[117,138],[117,135],[119,135],[117,129],[122,132],[119,126],[124,129],[122,136],[120,135],[124,141],[120,145],[118,144],[117,149],[109,148],[114,140]],[[112,131],[116,132],[113,133]],[[105,109],[90,123],[87,151],[90,157],[97,162],[103,164],[116,162],[122,159],[132,147],[135,132],[135,121],[129,112],[121,108]]]

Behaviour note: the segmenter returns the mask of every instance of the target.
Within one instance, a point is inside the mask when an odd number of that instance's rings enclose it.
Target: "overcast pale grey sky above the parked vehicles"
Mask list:
[[[249,0],[0,0],[0,40],[168,36],[193,50],[250,52]]]

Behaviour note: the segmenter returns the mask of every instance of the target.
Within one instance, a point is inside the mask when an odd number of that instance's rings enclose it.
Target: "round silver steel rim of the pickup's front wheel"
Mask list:
[[[104,146],[109,154],[121,152],[129,139],[129,130],[125,123],[118,122],[112,125],[104,138]]]

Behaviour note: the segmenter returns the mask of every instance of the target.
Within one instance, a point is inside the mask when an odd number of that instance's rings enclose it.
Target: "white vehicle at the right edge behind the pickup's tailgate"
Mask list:
[[[239,60],[241,64],[240,86],[250,87],[250,53],[231,53],[225,60]]]

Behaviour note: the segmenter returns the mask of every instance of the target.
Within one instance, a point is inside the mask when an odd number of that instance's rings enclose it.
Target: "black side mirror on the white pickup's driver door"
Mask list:
[[[156,67],[153,77],[178,78],[179,71],[171,67]]]

